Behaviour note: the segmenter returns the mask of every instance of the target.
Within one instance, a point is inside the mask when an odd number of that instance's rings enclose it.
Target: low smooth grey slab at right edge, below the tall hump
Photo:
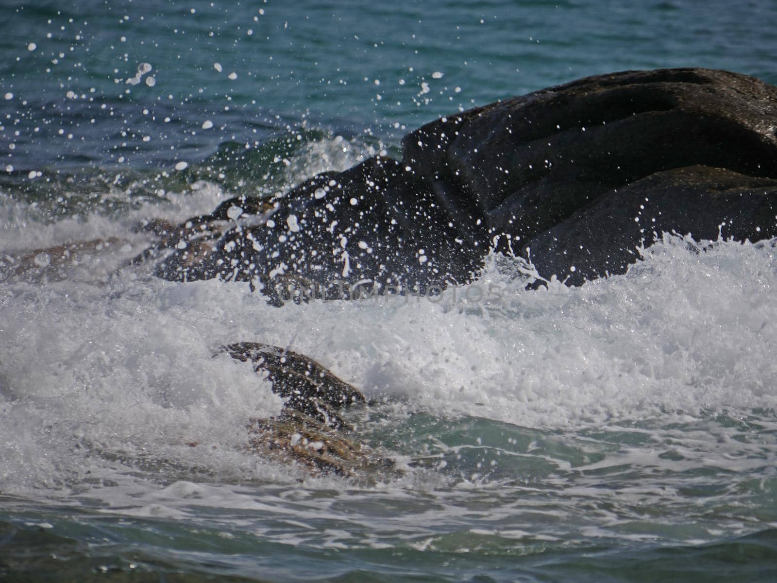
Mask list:
[[[777,180],[709,166],[658,172],[601,194],[531,239],[538,271],[568,285],[625,273],[662,233],[751,242],[777,236]]]

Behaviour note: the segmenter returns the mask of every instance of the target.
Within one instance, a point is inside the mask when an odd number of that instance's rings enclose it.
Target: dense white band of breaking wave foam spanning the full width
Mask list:
[[[104,221],[57,226],[60,236],[99,232]],[[667,239],[626,276],[538,292],[523,290],[510,262],[493,261],[479,284],[503,286],[508,299],[492,304],[382,298],[278,309],[217,281],[12,283],[0,292],[5,491],[78,483],[98,463],[85,452],[98,451],[276,475],[256,470],[240,446],[247,415],[277,413],[279,398],[250,365],[213,357],[238,340],[291,342],[368,396],[523,427],[775,407],[773,254]]]

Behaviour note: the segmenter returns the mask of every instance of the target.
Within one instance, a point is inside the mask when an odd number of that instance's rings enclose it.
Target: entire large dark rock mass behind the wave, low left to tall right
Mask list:
[[[315,176],[272,208],[227,201],[146,256],[163,278],[253,281],[276,300],[287,286],[434,292],[470,281],[491,248],[580,284],[622,273],[661,232],[777,236],[775,205],[777,88],[622,72],[443,117],[406,136],[401,162]]]

